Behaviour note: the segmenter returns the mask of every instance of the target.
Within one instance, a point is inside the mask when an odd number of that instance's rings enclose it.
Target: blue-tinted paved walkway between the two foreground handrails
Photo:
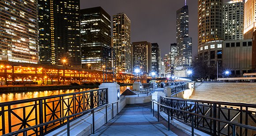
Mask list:
[[[90,136],[189,136],[173,125],[168,131],[168,122],[161,115],[158,122],[157,112],[153,117],[150,107],[150,102],[127,104],[119,115]]]

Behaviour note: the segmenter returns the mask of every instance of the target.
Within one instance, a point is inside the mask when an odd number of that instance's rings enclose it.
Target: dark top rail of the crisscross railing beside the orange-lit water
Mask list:
[[[102,88],[102,89],[108,89],[108,88]],[[75,95],[75,94],[79,94],[79,93],[89,93],[92,91],[94,92],[94,91],[98,91],[98,90],[102,90],[102,89],[94,89],[94,90],[76,92],[76,93],[58,94],[58,95],[53,95],[53,96],[30,98],[30,99],[25,99],[25,100],[8,101],[8,102],[0,103],[0,107],[1,106],[9,106],[9,105],[16,104],[16,103],[23,104],[23,103],[32,102],[35,100],[50,99],[50,98],[56,98],[56,97],[65,97],[65,96]]]

